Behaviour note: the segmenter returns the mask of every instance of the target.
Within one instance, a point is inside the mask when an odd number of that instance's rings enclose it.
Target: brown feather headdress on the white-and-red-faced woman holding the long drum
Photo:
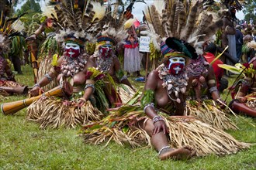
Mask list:
[[[78,4],[57,3],[54,6],[57,17],[51,15],[54,20],[54,28],[57,29],[56,39],[59,42],[74,42],[84,46],[88,39],[88,30],[101,19],[102,11],[99,13],[99,3],[91,2],[85,4],[85,10],[78,8]]]

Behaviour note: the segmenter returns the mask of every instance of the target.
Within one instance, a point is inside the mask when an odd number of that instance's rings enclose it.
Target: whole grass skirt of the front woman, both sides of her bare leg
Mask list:
[[[219,128],[203,123],[195,117],[164,117],[169,130],[170,145],[180,148],[189,145],[195,148],[198,156],[209,154],[229,155],[248,148],[250,145],[237,141]],[[137,121],[146,118],[139,106],[123,106],[112,110],[108,117],[83,127],[81,136],[86,143],[99,145],[102,142],[115,141],[119,145],[129,143],[132,147],[150,145],[146,131],[137,128]]]

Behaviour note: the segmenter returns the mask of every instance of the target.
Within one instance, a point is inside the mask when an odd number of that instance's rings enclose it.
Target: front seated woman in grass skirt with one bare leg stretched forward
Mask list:
[[[192,11],[196,11],[197,5],[199,4],[196,3],[192,7]],[[154,5],[149,8],[156,10]],[[148,13],[146,15],[149,15]],[[133,102],[112,109],[109,116],[102,121],[83,126],[82,136],[85,142],[98,145],[103,141],[107,144],[109,141],[116,141],[119,145],[129,143],[133,147],[146,143],[157,150],[161,160],[192,158],[195,155],[225,155],[248,148],[248,144],[237,141],[219,128],[199,121],[196,117],[183,116],[186,94],[189,91],[186,68],[189,58],[196,59],[198,56],[192,46],[180,40],[181,35],[182,39],[187,39],[189,32],[179,34],[182,30],[177,27],[163,29],[167,21],[161,18],[163,16],[157,17],[161,21],[149,22],[153,25],[150,28],[154,28],[154,32],[150,32],[153,30],[150,29],[144,33],[150,36],[154,44],[150,48],[158,51],[161,49],[164,61],[149,73],[143,97],[140,100],[140,95],[135,96],[131,100]],[[167,46],[164,39],[161,39],[166,35],[176,37],[166,39]]]

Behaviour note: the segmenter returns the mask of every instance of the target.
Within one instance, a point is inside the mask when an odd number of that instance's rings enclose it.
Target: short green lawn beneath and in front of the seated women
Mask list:
[[[23,75],[17,75],[16,80],[32,86],[32,69],[22,66],[22,72]],[[230,82],[233,81],[234,78],[230,78]],[[144,83],[131,82],[136,87],[144,86]],[[222,95],[223,99],[226,94]],[[23,98],[5,97],[0,104]],[[256,142],[255,119],[238,116],[232,120],[239,130],[228,133],[239,141]],[[234,155],[161,162],[157,152],[147,146],[85,145],[78,136],[79,130],[40,130],[38,124],[26,121],[26,109],[12,116],[0,114],[0,169],[256,169],[255,145]]]

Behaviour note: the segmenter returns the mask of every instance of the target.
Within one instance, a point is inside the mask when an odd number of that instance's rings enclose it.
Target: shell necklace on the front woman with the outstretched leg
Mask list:
[[[168,68],[164,66],[164,64],[158,66],[157,70],[159,78],[163,80],[163,88],[166,87],[168,97],[180,104],[181,100],[178,98],[178,93],[185,93],[189,80],[185,70],[183,70],[182,73],[179,73],[178,75],[171,75],[168,73]],[[171,97],[171,93],[175,93],[175,97],[177,97],[177,99],[173,99]]]

